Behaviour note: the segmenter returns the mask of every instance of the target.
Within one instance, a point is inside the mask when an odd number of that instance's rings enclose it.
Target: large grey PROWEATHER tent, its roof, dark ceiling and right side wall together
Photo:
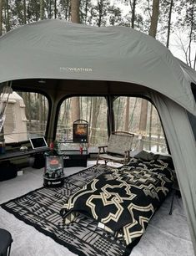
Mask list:
[[[0,82],[13,80],[13,89],[42,90],[50,96],[49,136],[64,95],[137,93],[153,100],[173,156],[196,253],[196,148],[187,114],[196,115],[191,89],[195,71],[134,29],[60,20],[31,23],[5,34],[0,55]]]

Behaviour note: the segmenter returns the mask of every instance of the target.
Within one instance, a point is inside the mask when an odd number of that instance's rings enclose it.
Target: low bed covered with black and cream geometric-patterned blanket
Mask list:
[[[106,167],[65,202],[60,214],[66,225],[78,214],[93,218],[99,228],[130,247],[138,243],[172,185],[171,161],[132,158],[120,168]]]

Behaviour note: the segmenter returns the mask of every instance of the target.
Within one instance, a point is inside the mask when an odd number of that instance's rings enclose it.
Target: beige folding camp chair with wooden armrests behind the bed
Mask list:
[[[126,131],[115,131],[108,141],[108,146],[98,146],[98,159],[104,160],[105,164],[108,161],[118,162],[122,164],[130,161],[130,151],[133,144],[133,133]]]

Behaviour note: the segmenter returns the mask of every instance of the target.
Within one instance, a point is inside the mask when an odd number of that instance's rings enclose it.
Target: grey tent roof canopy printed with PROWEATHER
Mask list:
[[[132,28],[43,20],[2,36],[0,56],[0,82],[43,78],[141,84],[196,113],[190,87],[195,71],[185,70],[163,44]]]

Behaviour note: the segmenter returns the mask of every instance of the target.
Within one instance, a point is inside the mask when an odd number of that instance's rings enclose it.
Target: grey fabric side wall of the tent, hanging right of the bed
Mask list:
[[[181,106],[157,94],[152,99],[163,120],[196,252],[196,144],[193,131],[187,112]]]

